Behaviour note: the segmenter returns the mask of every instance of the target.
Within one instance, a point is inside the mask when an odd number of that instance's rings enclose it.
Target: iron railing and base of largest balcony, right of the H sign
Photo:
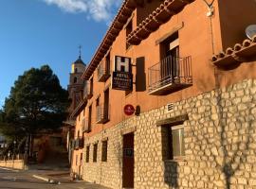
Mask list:
[[[166,57],[149,68],[149,94],[164,95],[192,86],[192,58]]]

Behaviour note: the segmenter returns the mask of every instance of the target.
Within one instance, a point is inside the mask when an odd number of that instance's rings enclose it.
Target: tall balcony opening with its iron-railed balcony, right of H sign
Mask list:
[[[180,57],[179,33],[159,41],[159,62],[149,67],[149,94],[170,94],[192,85],[192,58]]]

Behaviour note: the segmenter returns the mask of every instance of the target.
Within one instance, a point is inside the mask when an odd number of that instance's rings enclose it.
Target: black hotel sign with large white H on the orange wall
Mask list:
[[[121,91],[133,90],[131,58],[115,56],[112,89]]]

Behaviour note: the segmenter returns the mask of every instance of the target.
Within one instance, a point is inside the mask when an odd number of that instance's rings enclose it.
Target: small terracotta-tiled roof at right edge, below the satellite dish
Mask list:
[[[246,39],[243,43],[236,43],[233,47],[228,47],[225,51],[213,55],[211,61],[218,67],[225,67],[253,60],[256,56],[256,35],[251,40]]]

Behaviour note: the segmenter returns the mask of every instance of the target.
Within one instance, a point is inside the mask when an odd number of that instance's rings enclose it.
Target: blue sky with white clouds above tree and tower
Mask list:
[[[64,88],[72,61],[89,62],[120,0],[1,0],[0,108],[18,76],[49,64]]]

